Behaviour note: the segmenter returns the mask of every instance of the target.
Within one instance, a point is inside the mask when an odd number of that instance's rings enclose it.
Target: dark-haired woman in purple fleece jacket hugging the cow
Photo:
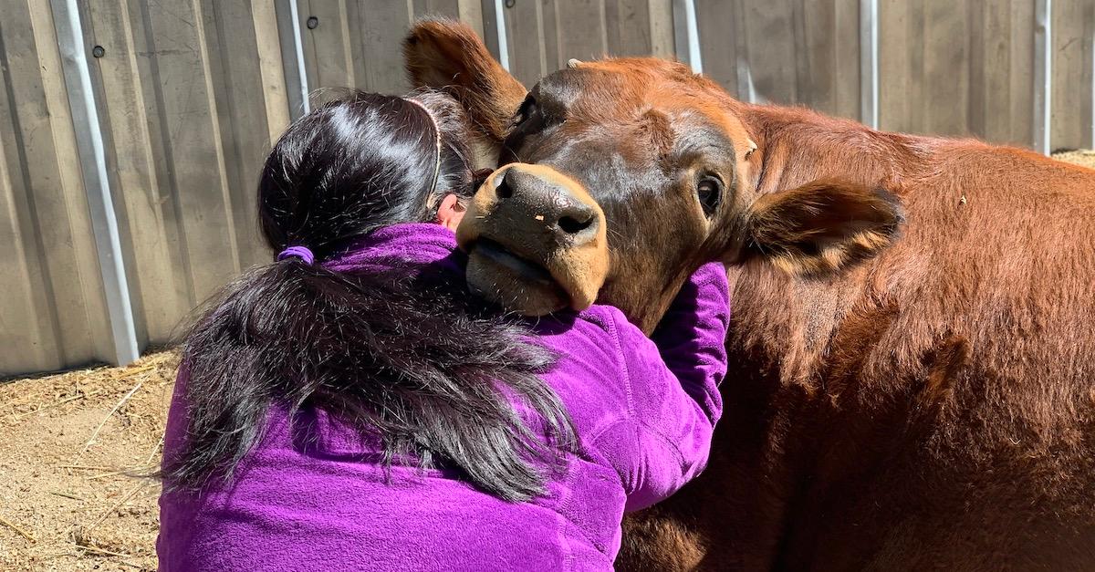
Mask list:
[[[624,510],[702,469],[722,265],[657,345],[608,306],[481,307],[452,232],[472,192],[459,117],[439,94],[356,93],[270,152],[260,213],[281,254],[187,339],[161,570],[611,570]]]

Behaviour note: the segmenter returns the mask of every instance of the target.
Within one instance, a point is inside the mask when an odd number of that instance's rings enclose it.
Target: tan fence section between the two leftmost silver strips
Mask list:
[[[276,27],[273,10],[261,1],[200,5],[207,48],[204,53],[191,49],[192,59],[180,67],[162,65],[165,57],[183,50],[165,47],[163,38],[153,35],[152,14],[141,7],[108,0],[89,4],[89,33],[107,50],[92,69],[101,85],[112,182],[134,249],[131,277],[139,285],[140,317],[152,342],[170,341],[180,319],[204,297],[192,285],[193,273],[206,276],[198,287],[209,291],[234,276],[235,264],[269,261],[254,224],[254,190],[272,139],[288,124],[277,37],[256,33]],[[189,37],[196,39],[197,31]],[[185,38],[174,42],[192,45]],[[203,66],[193,57],[207,60]],[[177,84],[181,70],[192,81],[205,81],[219,104],[203,104],[200,96],[192,96],[186,107],[170,94],[164,96],[161,84]],[[197,115],[208,122],[208,133],[172,131],[172,115],[182,116],[183,123]],[[218,141],[210,134],[218,134]],[[194,140],[207,149],[205,159],[180,148],[180,141],[193,146]],[[218,145],[227,160],[209,155],[217,152]],[[175,171],[185,169],[175,163],[185,161],[206,161],[194,169],[206,171],[206,184],[211,182],[214,188],[219,184],[221,192],[194,188],[192,180],[175,178]],[[188,205],[180,197],[194,193],[204,193],[200,203]],[[211,221],[210,214],[215,215]],[[203,248],[214,250],[194,251],[194,239],[200,238],[195,234],[209,232],[216,242]]]

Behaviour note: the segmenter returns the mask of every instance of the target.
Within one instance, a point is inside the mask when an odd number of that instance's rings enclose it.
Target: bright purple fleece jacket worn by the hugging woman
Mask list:
[[[326,265],[463,277],[439,225],[396,225],[359,247]],[[353,427],[312,411],[318,438],[301,446],[275,410],[230,487],[160,497],[160,570],[611,570],[623,513],[672,494],[707,461],[728,320],[722,264],[692,276],[654,341],[610,306],[540,320],[539,341],[561,356],[543,379],[578,447],[549,494],[527,503],[440,470],[395,467],[385,482]],[[165,456],[185,438],[185,382],[180,375]]]

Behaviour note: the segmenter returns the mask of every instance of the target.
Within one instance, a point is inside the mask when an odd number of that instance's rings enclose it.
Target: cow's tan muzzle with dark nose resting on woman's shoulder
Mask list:
[[[581,184],[545,165],[492,173],[457,240],[472,289],[529,316],[589,307],[608,274],[604,213]]]

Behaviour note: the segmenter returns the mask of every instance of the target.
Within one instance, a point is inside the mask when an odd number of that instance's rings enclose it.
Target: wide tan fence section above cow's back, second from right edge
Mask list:
[[[1029,145],[1029,2],[884,0],[879,8],[883,128]]]

